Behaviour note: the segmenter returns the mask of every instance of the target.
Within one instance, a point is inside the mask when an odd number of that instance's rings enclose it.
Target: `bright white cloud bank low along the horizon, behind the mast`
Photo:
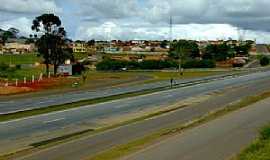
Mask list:
[[[111,27],[110,34],[106,32],[107,25]],[[93,26],[84,24],[76,32],[77,39],[89,40],[110,40],[110,39],[169,39],[168,26],[153,26],[144,24],[140,27],[124,26],[117,22],[105,22],[101,25]],[[240,33],[237,27],[229,24],[180,24],[173,27],[174,39],[193,40],[217,40],[229,38],[238,39]],[[245,39],[257,40],[259,43],[270,42],[270,35],[263,31],[246,30]]]

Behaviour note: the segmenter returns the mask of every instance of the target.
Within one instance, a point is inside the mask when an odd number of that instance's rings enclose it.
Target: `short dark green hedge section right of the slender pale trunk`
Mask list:
[[[188,60],[183,64],[183,68],[215,68],[213,60]]]

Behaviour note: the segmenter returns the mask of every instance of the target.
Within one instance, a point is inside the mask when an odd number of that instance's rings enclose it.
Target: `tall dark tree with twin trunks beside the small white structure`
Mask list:
[[[43,14],[33,20],[32,30],[43,33],[36,42],[38,51],[44,58],[46,72],[49,74],[49,65],[54,65],[54,74],[57,68],[66,59],[72,57],[66,46],[66,31],[61,26],[61,20],[54,14]]]

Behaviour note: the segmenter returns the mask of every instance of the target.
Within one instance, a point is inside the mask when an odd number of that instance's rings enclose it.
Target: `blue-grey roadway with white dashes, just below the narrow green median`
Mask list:
[[[228,86],[239,86],[256,79],[268,78],[269,75],[270,72],[256,73],[232,79],[214,81],[207,84],[177,88],[150,95],[125,98],[102,104],[38,115],[20,121],[3,122],[0,123],[0,142],[1,139],[14,139],[17,138],[16,136],[24,137],[31,134],[39,134],[44,131],[50,132],[56,129],[61,130],[63,128],[72,128],[80,125],[97,127],[95,123],[100,119],[125,115],[144,109],[155,108],[157,106],[168,106],[186,98],[214,92]],[[57,125],[43,123],[44,121],[50,121],[60,117],[66,118],[63,121],[59,121]]]

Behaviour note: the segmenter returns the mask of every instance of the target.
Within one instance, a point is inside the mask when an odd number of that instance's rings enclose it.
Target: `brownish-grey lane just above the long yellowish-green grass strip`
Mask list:
[[[210,99],[177,110],[170,114],[158,116],[131,125],[123,126],[97,135],[77,139],[75,141],[35,152],[20,160],[74,160],[85,159],[109,149],[115,145],[126,144],[163,128],[187,123],[199,118],[212,110],[220,109],[227,104],[238,101],[246,96],[269,91],[270,81],[259,80],[217,94]]]

